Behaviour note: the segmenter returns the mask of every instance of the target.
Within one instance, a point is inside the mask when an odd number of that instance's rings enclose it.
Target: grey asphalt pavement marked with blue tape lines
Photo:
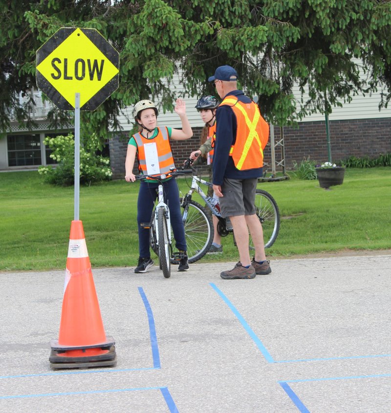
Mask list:
[[[0,412],[391,411],[391,254],[233,264],[92,269],[117,364],[70,370],[49,364],[65,270],[0,273]]]

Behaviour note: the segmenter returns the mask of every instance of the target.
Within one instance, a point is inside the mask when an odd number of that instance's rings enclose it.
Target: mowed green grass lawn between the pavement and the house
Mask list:
[[[186,192],[184,179],[178,180]],[[139,184],[113,181],[80,188],[80,219],[92,267],[134,266],[138,257]],[[330,190],[318,181],[261,183],[280,208],[281,228],[268,256],[391,248],[391,168],[347,169]],[[0,270],[65,269],[73,187],[44,184],[38,172],[0,174]],[[203,261],[233,261],[232,236],[224,253]],[[153,253],[152,253],[153,255]]]

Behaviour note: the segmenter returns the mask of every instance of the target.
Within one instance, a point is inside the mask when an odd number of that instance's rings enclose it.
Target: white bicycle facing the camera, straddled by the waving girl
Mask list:
[[[163,184],[162,181],[168,177],[173,178],[178,175],[192,173],[192,170],[174,170],[169,174],[154,174],[154,175],[136,175],[136,180],[146,181],[147,178],[152,178],[158,181],[159,185],[156,189],[157,204],[152,211],[151,221],[149,223],[140,223],[140,227],[150,230],[150,245],[159,259],[159,268],[163,271],[165,278],[171,276],[171,263],[178,264],[183,258],[180,252],[173,252],[171,243],[171,222],[170,210],[164,202]]]

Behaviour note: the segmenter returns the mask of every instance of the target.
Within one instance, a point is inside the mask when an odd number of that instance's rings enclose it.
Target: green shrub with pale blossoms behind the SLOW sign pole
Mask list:
[[[56,167],[40,166],[38,172],[45,182],[55,185],[73,185],[75,178],[75,140],[72,134],[45,138],[45,145],[52,150],[50,158],[57,161]],[[97,155],[99,140],[96,136],[88,139],[84,147],[80,147],[80,183],[108,181],[112,172],[110,160]]]

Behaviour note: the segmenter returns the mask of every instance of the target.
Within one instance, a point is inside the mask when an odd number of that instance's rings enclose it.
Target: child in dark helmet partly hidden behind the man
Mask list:
[[[200,163],[201,159],[206,159],[207,164],[212,165],[216,140],[216,110],[218,105],[219,102],[215,96],[201,96],[198,99],[197,104],[195,105],[195,109],[201,115],[201,119],[205,122],[205,126],[201,132],[201,146],[199,147],[199,149],[190,154],[190,159],[195,160],[193,162],[194,166],[197,163]],[[197,157],[199,158],[197,159]],[[210,174],[210,180],[212,181],[212,174]],[[213,193],[212,197],[217,204],[218,196]],[[212,245],[207,252],[208,254],[223,252],[223,246],[221,245],[221,236],[217,231],[218,218],[213,215],[212,220],[214,227],[214,236]]]

